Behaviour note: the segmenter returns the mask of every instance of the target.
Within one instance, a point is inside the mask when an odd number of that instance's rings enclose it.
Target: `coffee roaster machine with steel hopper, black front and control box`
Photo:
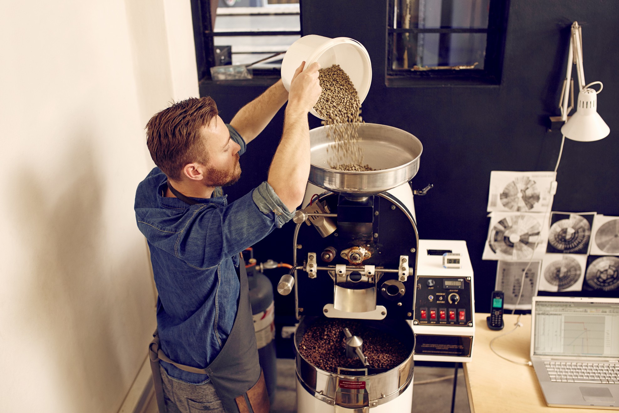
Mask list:
[[[297,406],[313,412],[410,412],[413,360],[466,362],[475,331],[473,272],[464,241],[419,240],[409,181],[422,144],[402,129],[362,124],[365,163],[343,172],[326,127],[312,129],[304,208],[294,217],[293,269],[279,293],[295,294],[299,324]],[[314,227],[314,228],[309,228]],[[396,337],[410,350],[397,367],[374,368],[363,337],[345,334],[348,357],[362,368],[326,372],[299,351],[319,317],[354,319]]]

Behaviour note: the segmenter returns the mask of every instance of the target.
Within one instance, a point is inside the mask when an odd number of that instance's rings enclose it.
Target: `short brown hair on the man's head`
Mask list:
[[[206,165],[200,130],[217,116],[210,97],[189,98],[173,103],[146,124],[146,145],[155,165],[173,180],[180,180],[183,167],[199,162]]]

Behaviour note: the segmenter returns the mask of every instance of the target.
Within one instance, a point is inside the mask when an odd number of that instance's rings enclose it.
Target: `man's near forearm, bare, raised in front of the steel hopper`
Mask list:
[[[293,211],[303,201],[308,176],[308,115],[287,109],[282,141],[271,162],[268,182],[288,210]]]

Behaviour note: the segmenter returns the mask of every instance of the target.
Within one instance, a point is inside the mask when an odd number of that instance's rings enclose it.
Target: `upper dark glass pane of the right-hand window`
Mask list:
[[[394,0],[394,28],[488,28],[490,0]]]

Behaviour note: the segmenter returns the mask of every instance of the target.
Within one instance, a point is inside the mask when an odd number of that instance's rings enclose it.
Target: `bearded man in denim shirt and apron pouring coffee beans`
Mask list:
[[[229,125],[211,98],[175,103],[147,124],[157,168],[139,184],[135,211],[159,295],[150,358],[162,412],[269,409],[239,253],[290,220],[303,201],[308,111],[321,93],[319,64],[304,65],[290,93],[279,80]],[[221,187],[238,180],[239,155],[287,100],[267,181],[227,204]]]

